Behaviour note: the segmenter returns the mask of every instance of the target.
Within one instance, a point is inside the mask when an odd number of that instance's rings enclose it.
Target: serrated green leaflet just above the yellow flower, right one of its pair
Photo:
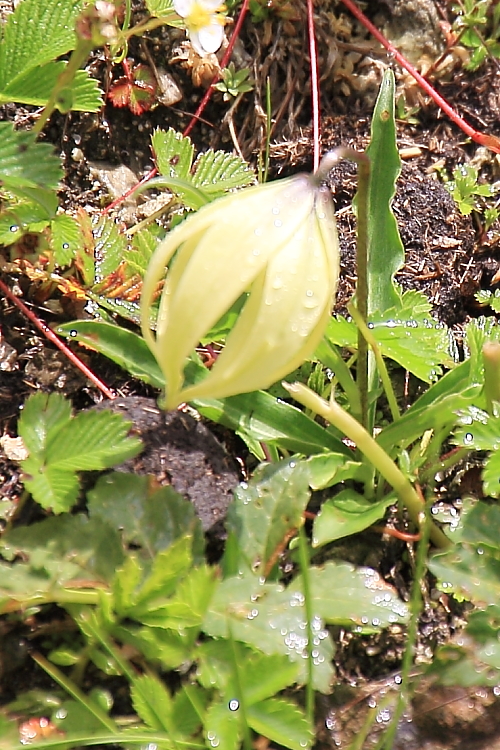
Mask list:
[[[216,198],[227,190],[255,184],[255,174],[241,157],[209,149],[196,158],[193,184]]]

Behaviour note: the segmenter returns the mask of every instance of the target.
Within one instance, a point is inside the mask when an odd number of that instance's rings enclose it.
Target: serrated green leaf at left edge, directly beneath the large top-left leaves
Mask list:
[[[56,190],[63,171],[52,146],[38,143],[30,131],[0,122],[0,180],[3,187]]]

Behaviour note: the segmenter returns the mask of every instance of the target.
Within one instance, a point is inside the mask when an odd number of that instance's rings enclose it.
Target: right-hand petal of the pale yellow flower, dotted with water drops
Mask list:
[[[210,375],[187,388],[183,400],[267,388],[314,351],[338,279],[338,238],[328,200],[320,201],[322,210],[311,212],[293,241],[271,258]]]

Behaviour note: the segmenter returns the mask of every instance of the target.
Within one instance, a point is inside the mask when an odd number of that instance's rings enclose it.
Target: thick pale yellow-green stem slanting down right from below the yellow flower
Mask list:
[[[423,523],[424,504],[411,482],[396,466],[391,457],[372,438],[354,417],[348,414],[335,401],[327,402],[302,383],[282,383],[299,403],[319,414],[350,438],[375,469],[394,488],[399,499],[408,511],[413,523],[420,528]],[[434,523],[430,528],[430,538],[436,547],[451,546],[450,540]]]

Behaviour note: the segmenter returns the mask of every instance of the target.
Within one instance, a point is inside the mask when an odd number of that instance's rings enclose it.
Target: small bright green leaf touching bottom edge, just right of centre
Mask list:
[[[311,747],[314,739],[302,709],[285,698],[271,698],[248,708],[248,723],[254,732],[290,750]]]

